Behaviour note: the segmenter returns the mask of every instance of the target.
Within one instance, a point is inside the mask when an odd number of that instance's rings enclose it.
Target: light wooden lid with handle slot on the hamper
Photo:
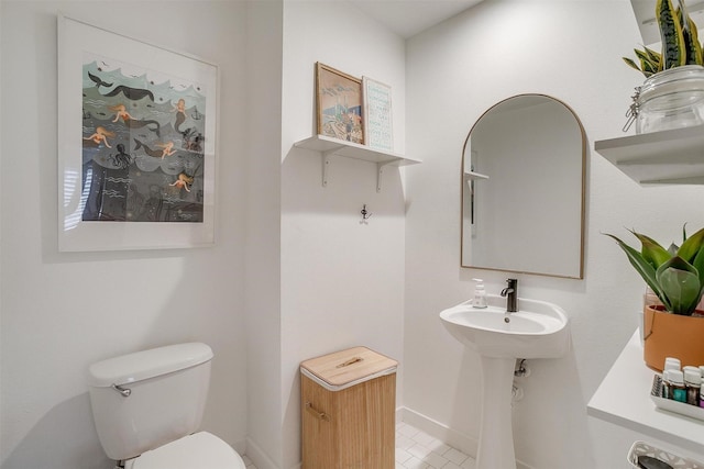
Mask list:
[[[337,391],[378,376],[391,375],[396,371],[398,361],[366,347],[353,347],[306,360],[300,364],[300,370],[304,375],[322,381],[320,383],[326,388]]]

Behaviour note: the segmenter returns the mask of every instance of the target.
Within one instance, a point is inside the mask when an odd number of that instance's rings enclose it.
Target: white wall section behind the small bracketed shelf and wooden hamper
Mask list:
[[[292,148],[316,133],[315,63],[392,87],[394,142],[405,150],[404,41],[356,9],[284,3],[282,129],[282,405],[284,468],[300,461],[298,365],[364,345],[402,361],[404,193],[399,170],[338,158],[321,182],[321,156]],[[360,223],[363,204],[372,212]],[[402,371],[399,370],[399,376]],[[400,395],[400,380],[398,380]],[[399,398],[400,401],[400,398]]]

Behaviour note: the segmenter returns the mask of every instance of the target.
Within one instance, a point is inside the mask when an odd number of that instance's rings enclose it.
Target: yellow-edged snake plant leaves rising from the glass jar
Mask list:
[[[672,0],[657,0],[656,19],[660,29],[662,52],[659,53],[646,46],[642,51],[634,49],[638,63],[623,57],[628,66],[642,72],[647,78],[669,68],[704,65],[696,24],[688,14],[684,0],[679,0],[676,9]]]

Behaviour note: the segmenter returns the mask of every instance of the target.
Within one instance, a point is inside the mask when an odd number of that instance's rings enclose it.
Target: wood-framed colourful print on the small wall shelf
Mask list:
[[[316,63],[318,134],[364,144],[362,80]]]

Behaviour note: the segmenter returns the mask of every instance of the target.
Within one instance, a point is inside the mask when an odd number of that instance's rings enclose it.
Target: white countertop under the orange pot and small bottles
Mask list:
[[[587,414],[704,454],[704,421],[656,407],[650,389],[656,371],[646,366],[638,330],[608,371],[590,403]]]

